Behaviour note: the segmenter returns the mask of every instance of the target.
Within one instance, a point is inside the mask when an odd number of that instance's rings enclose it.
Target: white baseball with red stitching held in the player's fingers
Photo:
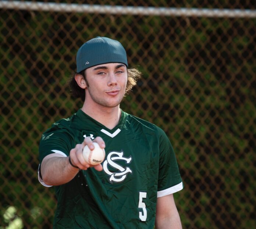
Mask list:
[[[88,145],[83,148],[83,158],[90,165],[98,165],[105,158],[105,150],[100,148],[99,144],[94,142],[94,149],[90,150]]]

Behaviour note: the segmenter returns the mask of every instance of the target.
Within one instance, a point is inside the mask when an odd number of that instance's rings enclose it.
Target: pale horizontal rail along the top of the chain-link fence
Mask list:
[[[80,12],[98,14],[125,14],[125,15],[154,15],[154,16],[185,16],[207,18],[256,18],[256,10],[243,9],[207,9],[207,8],[168,8],[168,7],[142,7],[120,5],[89,5],[68,3],[44,3],[30,1],[0,1],[0,8],[28,10],[28,11],[54,11],[54,12]]]

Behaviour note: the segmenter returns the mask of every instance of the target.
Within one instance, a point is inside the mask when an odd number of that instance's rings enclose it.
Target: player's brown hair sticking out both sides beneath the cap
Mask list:
[[[89,84],[86,80],[85,70],[72,75],[68,85],[69,85],[69,88],[70,88],[70,91],[71,91],[72,95],[75,98],[81,98],[82,101],[85,101],[85,89],[80,88],[78,86],[77,81],[75,81],[75,75],[76,74],[82,75],[86,84],[89,86]],[[132,89],[132,87],[136,85],[139,78],[141,78],[141,72],[138,69],[134,69],[134,68],[127,69],[127,85],[126,85],[125,93],[128,93]]]

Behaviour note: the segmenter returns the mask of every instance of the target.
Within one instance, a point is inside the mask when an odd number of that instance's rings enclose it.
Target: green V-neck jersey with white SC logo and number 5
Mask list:
[[[52,153],[68,156],[85,137],[97,136],[106,144],[103,171],[80,170],[55,186],[53,228],[153,229],[157,197],[183,188],[173,147],[156,125],[122,111],[110,130],[78,110],[42,135],[40,162]]]

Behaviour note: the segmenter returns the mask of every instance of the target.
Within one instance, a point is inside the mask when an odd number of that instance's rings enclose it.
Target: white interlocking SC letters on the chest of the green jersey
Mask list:
[[[106,174],[110,176],[109,181],[112,182],[122,182],[125,180],[127,177],[128,173],[132,173],[132,170],[129,167],[122,167],[121,165],[117,164],[115,161],[117,160],[124,160],[126,164],[131,163],[132,157],[130,156],[129,158],[125,158],[124,152],[115,152],[112,151],[107,155],[107,159],[103,163],[103,170],[105,171]],[[117,172],[111,172],[108,169],[108,166],[113,167],[114,169],[117,169],[119,171]]]

